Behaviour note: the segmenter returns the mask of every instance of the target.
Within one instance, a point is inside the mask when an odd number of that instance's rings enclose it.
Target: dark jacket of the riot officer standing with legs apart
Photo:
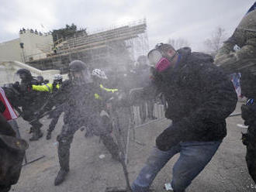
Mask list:
[[[103,103],[111,97],[110,95],[111,93],[103,90],[99,84],[75,85],[68,80],[63,82],[51,102],[62,106],[65,124],[81,125],[89,118],[99,115]],[[49,106],[52,106],[51,102],[45,107],[48,110]]]

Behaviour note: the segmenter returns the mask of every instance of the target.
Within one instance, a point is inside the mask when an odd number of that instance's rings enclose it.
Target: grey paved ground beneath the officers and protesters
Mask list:
[[[239,104],[240,105],[240,104]],[[238,112],[240,106],[237,106]],[[45,133],[49,120],[43,118],[43,139],[37,142],[29,142],[29,149],[26,152],[28,160],[44,155],[34,163],[23,166],[19,183],[12,187],[11,191],[16,192],[103,192],[106,187],[124,187],[125,180],[123,169],[119,163],[112,160],[99,138],[94,136],[85,139],[85,132],[75,133],[71,146],[71,170],[67,180],[60,186],[54,186],[54,178],[59,170],[57,159],[56,136],[61,130],[62,118],[54,130],[52,139],[46,140]],[[29,125],[19,119],[21,135],[29,139]],[[154,146],[156,136],[167,127],[170,122],[166,119],[154,122],[136,129],[137,141],[145,146],[130,142],[128,170],[130,180],[133,181],[147,159],[150,149]],[[213,156],[211,162],[199,174],[186,191],[197,192],[223,192],[223,191],[256,191],[253,181],[247,173],[245,163],[246,147],[243,146],[240,138],[242,131],[237,124],[243,124],[240,116],[227,118],[227,137],[223,140],[220,149]],[[104,158],[99,158],[101,155]],[[102,156],[101,156],[102,157]],[[171,180],[172,166],[178,155],[172,158],[164,169],[157,175],[153,183],[155,191],[165,191],[164,183]]]

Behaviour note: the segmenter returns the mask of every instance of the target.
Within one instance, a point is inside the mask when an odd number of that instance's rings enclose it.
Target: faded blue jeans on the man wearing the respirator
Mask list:
[[[171,187],[175,192],[185,191],[212,159],[221,142],[181,142],[165,152],[154,147],[144,168],[133,181],[133,192],[148,191],[157,173],[176,153],[180,153],[180,156],[173,167]]]

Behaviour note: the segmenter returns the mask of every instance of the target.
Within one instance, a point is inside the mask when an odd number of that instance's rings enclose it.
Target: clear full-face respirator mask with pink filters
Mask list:
[[[174,57],[171,57],[171,60]],[[160,50],[150,50],[150,52],[147,54],[147,58],[149,60],[150,65],[154,66],[158,72],[166,70],[168,69],[168,67],[171,66],[171,62],[166,57],[163,57]]]

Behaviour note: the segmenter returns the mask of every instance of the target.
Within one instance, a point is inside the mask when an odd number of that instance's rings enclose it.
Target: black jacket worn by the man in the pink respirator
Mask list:
[[[223,139],[227,135],[225,118],[237,104],[234,85],[213,64],[211,56],[192,53],[189,47],[178,53],[180,60],[175,69],[145,89],[152,94],[154,87],[168,102],[165,116],[173,121],[174,126],[168,130],[174,139],[172,144]]]

